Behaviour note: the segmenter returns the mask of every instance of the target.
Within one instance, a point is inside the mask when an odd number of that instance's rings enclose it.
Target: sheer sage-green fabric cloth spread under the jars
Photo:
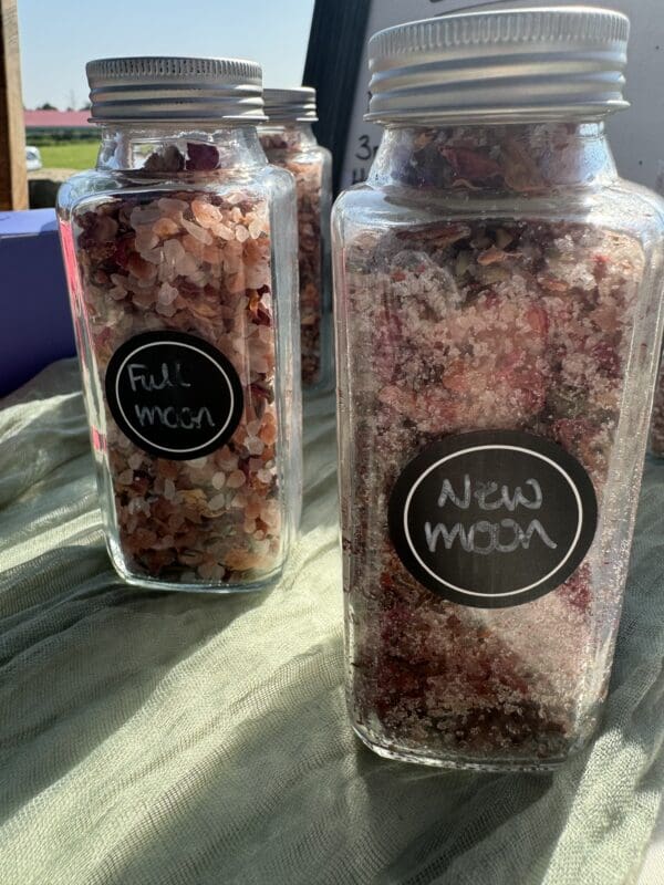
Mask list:
[[[334,418],[263,594],[124,586],[79,374],[0,412],[2,885],[623,885],[664,782],[664,468],[649,465],[601,733],[553,775],[387,762],[343,701]],[[554,637],[552,637],[554,641]]]

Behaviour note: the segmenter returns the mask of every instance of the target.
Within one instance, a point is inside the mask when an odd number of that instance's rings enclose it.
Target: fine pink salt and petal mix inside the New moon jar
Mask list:
[[[496,175],[469,154],[463,162],[448,167],[450,180]],[[387,501],[433,444],[516,430],[578,459],[602,512],[642,256],[622,233],[528,218],[365,230],[346,243],[356,425],[353,482],[342,489],[350,702],[370,740],[402,753],[424,745],[485,762],[556,760],[592,726],[578,720],[580,699],[598,693],[588,688],[590,649],[601,611],[618,605],[606,598],[600,544],[537,602],[466,607],[404,566]]]

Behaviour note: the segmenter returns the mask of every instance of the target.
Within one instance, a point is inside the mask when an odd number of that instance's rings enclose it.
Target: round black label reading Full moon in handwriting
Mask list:
[[[176,461],[220,448],[243,409],[230,361],[184,332],[145,332],[125,341],[111,357],[105,386],[123,433],[151,455]]]

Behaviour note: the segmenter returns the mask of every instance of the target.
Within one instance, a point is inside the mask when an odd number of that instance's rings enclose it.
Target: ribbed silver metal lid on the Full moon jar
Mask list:
[[[262,72],[239,59],[141,56],[85,66],[92,123],[262,123]]]

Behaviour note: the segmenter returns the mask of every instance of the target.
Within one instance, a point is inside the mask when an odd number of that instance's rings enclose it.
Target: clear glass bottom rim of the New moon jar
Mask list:
[[[574,743],[570,751],[560,758],[552,759],[517,759],[517,758],[496,758],[480,761],[471,757],[464,757],[463,754],[442,756],[427,752],[426,750],[415,750],[412,747],[403,747],[395,742],[381,742],[371,732],[364,730],[356,723],[353,723],[353,731],[360,738],[365,747],[369,747],[377,756],[383,759],[392,759],[396,762],[409,762],[418,766],[428,766],[429,768],[448,769],[453,771],[486,771],[486,772],[500,772],[500,771],[529,771],[547,773],[556,771],[572,756],[580,752],[588,743],[588,740]]]

